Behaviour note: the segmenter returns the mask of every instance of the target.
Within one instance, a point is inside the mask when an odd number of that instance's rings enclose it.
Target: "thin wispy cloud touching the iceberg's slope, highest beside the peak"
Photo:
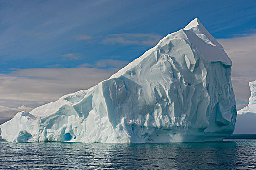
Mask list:
[[[122,33],[109,34],[102,40],[103,44],[123,44],[123,45],[156,45],[162,38],[159,34],[143,33]]]

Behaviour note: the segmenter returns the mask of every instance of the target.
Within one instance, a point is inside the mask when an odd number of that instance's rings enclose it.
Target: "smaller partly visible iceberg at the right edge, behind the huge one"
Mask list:
[[[256,81],[250,82],[249,104],[237,112],[234,134],[256,134]]]

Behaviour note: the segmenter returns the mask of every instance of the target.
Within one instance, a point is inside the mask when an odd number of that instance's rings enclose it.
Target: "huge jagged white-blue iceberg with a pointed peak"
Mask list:
[[[12,142],[217,141],[233,133],[231,60],[196,18],[88,90],[19,112]]]

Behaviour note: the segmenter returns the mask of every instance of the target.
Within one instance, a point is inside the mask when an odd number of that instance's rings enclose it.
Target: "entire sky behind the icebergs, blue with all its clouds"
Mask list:
[[[242,108],[256,80],[256,0],[1,0],[0,124],[109,78],[195,17],[232,59]]]

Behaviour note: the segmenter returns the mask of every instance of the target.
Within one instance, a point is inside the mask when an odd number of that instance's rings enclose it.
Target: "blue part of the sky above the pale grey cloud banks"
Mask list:
[[[132,61],[195,17],[215,38],[252,34],[256,1],[1,0],[0,73]]]

